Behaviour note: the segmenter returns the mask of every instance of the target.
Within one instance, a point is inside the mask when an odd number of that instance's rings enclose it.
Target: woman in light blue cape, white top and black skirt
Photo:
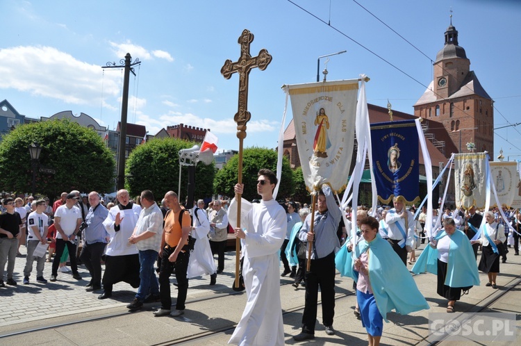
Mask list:
[[[443,226],[445,231],[424,249],[412,272],[437,274],[437,293],[449,301],[447,313],[453,313],[461,292],[468,293],[472,286],[479,286],[479,274],[472,245],[465,233],[456,229],[452,217],[443,220]]]

